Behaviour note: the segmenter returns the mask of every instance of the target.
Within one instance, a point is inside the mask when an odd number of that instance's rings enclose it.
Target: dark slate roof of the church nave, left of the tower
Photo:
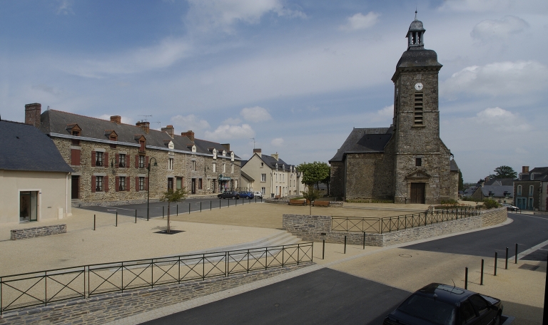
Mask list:
[[[342,161],[346,153],[384,153],[392,137],[390,128],[354,128],[329,161]]]

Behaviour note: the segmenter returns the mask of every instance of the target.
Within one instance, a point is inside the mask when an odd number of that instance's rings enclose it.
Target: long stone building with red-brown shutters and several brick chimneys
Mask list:
[[[73,204],[143,202],[168,188],[200,195],[238,187],[240,158],[230,144],[175,134],[173,125],[152,130],[149,122],[121,123],[59,110],[41,113],[39,103],[25,105],[25,123],[49,135],[72,167]],[[150,164],[150,168],[149,168]]]

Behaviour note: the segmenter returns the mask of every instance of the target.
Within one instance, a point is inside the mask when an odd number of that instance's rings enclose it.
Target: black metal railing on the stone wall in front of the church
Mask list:
[[[383,234],[402,229],[432,225],[438,222],[459,220],[466,217],[480,215],[480,207],[455,207],[414,213],[412,215],[399,215],[396,217],[336,217],[331,218],[331,229],[344,232],[369,232]]]

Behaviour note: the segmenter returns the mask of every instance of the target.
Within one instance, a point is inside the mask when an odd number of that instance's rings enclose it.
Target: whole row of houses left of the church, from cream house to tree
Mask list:
[[[255,150],[243,161],[229,143],[25,105],[25,123],[0,121],[0,222],[66,217],[71,206],[119,205],[161,197],[168,189],[189,195],[257,190],[267,197],[301,188],[295,165]],[[257,160],[256,158],[259,158]],[[247,165],[247,172],[242,167]],[[268,176],[265,176],[268,175]],[[51,210],[50,210],[51,209]]]

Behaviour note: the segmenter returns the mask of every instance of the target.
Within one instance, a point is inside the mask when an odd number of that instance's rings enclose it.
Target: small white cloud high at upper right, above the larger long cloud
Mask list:
[[[479,41],[491,41],[493,38],[515,37],[514,34],[521,33],[529,27],[527,21],[517,16],[504,16],[500,20],[487,19],[480,21],[470,36]]]

